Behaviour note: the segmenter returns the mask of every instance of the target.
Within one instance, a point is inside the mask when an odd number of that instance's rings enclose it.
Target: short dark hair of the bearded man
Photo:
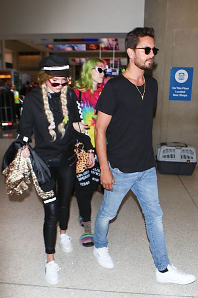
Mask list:
[[[139,37],[150,36],[154,38],[154,29],[147,27],[134,28],[125,38],[125,50],[134,49],[139,43]]]

